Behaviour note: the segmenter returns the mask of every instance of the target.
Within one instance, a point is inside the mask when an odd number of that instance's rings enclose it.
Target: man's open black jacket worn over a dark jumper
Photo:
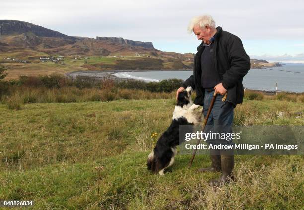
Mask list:
[[[246,54],[242,41],[237,36],[223,31],[217,27],[214,35],[214,57],[215,69],[219,73],[222,85],[227,89],[226,101],[231,102],[234,107],[241,104],[244,98],[243,77],[250,69],[250,58]],[[201,84],[201,54],[204,50],[203,42],[197,47],[194,56],[193,75],[184,83],[183,87],[191,86],[196,90],[195,104],[203,105],[205,90]]]

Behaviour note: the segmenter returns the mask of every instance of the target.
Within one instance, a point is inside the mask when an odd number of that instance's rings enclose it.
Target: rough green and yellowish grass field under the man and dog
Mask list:
[[[301,155],[236,155],[236,182],[214,189],[209,157],[177,155],[160,177],[146,170],[153,133],[170,124],[174,99],[0,104],[0,198],[33,209],[302,209]],[[285,113],[277,117],[279,112]],[[251,100],[237,125],[304,125],[303,103]]]

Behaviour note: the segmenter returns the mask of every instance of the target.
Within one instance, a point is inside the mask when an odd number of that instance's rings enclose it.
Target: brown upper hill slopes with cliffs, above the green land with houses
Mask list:
[[[0,40],[12,48],[23,47],[48,54],[109,55],[114,52],[154,51],[151,42],[118,37],[73,37],[32,23],[0,20]],[[5,50],[9,52],[9,49]]]

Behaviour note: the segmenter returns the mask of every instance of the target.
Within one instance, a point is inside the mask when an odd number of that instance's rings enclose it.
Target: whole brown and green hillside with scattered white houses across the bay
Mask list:
[[[0,20],[0,63],[7,69],[6,79],[79,70],[191,70],[193,58],[193,53],[157,50],[152,42],[68,36],[28,22]],[[252,68],[276,65],[251,60]]]

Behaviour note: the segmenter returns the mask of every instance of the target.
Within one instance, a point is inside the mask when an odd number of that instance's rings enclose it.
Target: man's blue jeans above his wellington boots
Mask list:
[[[204,97],[204,117],[206,118],[211,99],[213,97],[214,91],[205,91]],[[212,145],[233,145],[232,138],[227,138],[227,133],[232,133],[232,124],[234,116],[233,104],[229,102],[223,102],[222,98],[224,96],[217,95],[215,102],[213,104],[211,113],[209,115],[207,124],[205,126],[205,132],[215,133],[215,135],[210,136],[206,140],[207,144]],[[223,138],[224,137],[224,138]]]

